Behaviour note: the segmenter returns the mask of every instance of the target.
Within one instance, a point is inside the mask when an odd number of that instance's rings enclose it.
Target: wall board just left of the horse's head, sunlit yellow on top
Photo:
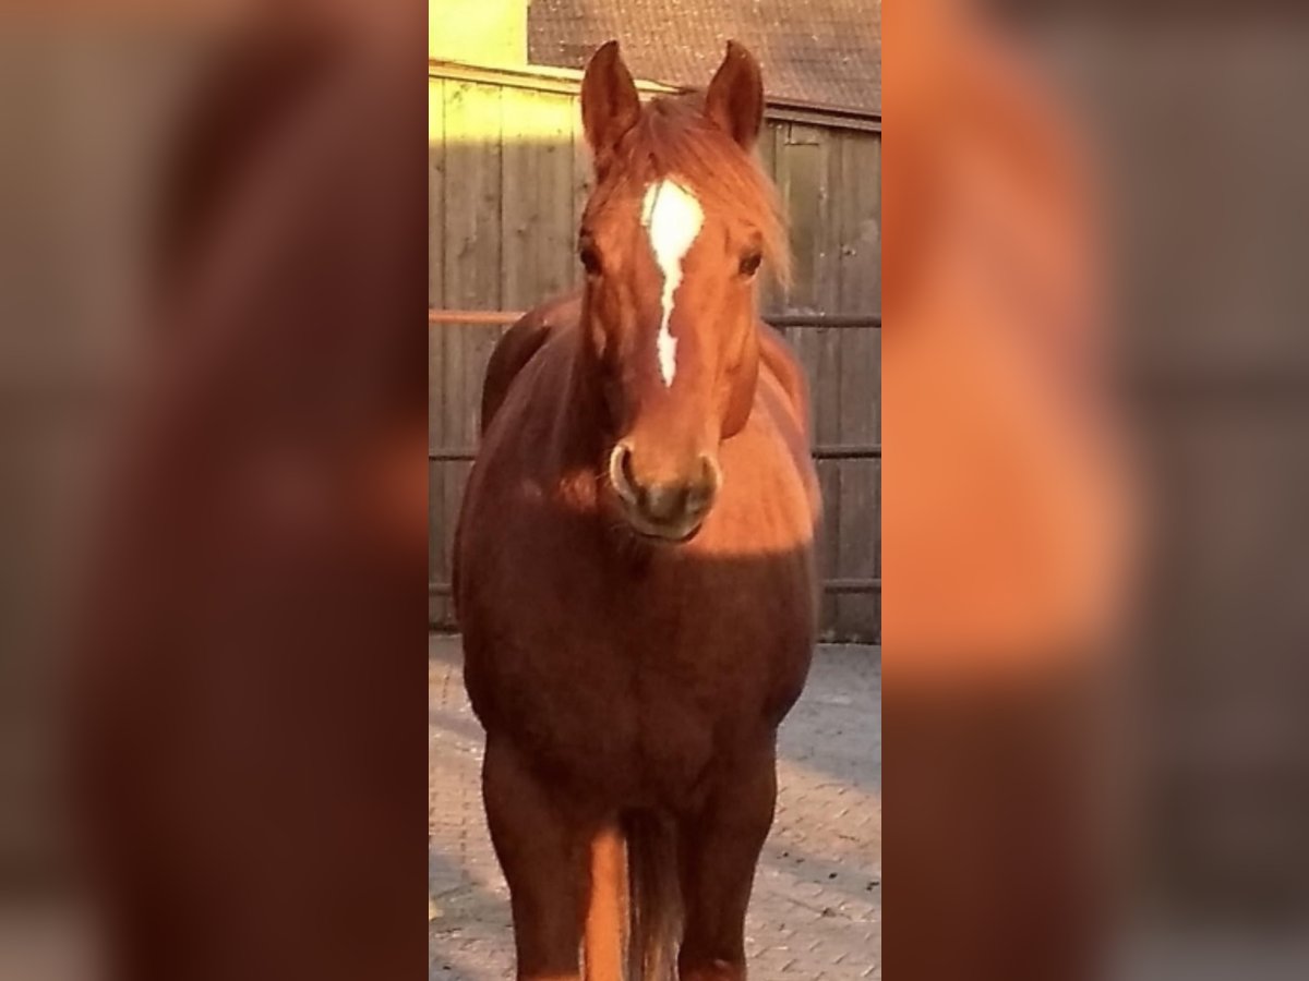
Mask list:
[[[573,283],[577,266],[573,215],[573,116],[577,101],[572,95],[542,93],[537,105],[541,148],[537,173],[537,208],[541,229],[537,250],[537,292],[531,302],[564,293]]]

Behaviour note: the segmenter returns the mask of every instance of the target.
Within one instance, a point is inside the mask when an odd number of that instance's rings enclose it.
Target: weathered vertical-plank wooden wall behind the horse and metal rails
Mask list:
[[[590,160],[572,94],[429,80],[428,302],[446,309],[524,309],[572,285],[577,218]],[[759,156],[792,226],[795,277],[768,285],[772,313],[881,310],[881,137],[770,120]],[[881,439],[881,332],[785,331],[809,377],[816,439]],[[482,373],[500,331],[440,326],[428,332],[432,449],[473,446]],[[826,506],[823,573],[876,577],[881,460],[818,464]],[[431,576],[449,581],[450,538],[466,463],[431,464]],[[880,596],[825,599],[830,637],[876,641]],[[432,621],[449,625],[449,602]]]

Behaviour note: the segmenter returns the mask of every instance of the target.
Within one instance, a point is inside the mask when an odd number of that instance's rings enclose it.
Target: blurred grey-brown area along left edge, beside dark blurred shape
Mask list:
[[[67,641],[69,581],[114,420],[158,334],[143,311],[160,149],[208,41],[199,25],[174,27],[152,38],[117,20],[9,13],[0,31],[0,972],[9,977],[60,976],[50,972],[71,969],[69,959],[86,965],[65,937],[64,906],[46,903],[68,886],[54,651]]]

